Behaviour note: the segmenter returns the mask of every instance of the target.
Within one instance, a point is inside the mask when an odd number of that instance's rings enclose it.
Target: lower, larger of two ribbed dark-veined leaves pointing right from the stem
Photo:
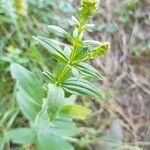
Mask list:
[[[102,99],[99,89],[94,84],[84,79],[69,78],[64,81],[62,86],[64,90],[75,95],[87,95],[96,100]]]

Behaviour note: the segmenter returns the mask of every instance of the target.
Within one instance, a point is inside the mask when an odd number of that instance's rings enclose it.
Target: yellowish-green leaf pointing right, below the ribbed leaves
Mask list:
[[[91,112],[90,109],[80,105],[65,105],[61,110],[62,114],[77,119],[85,119],[90,112]]]

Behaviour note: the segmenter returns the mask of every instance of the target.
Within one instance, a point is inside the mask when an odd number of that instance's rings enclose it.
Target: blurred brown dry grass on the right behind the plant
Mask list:
[[[150,141],[150,48],[139,52],[137,45],[144,45],[150,39],[150,2],[141,0],[127,24],[120,23],[116,17],[116,11],[123,3],[125,1],[102,1],[102,15],[98,15],[96,20],[114,25],[116,32],[95,33],[97,40],[109,40],[112,47],[105,57],[97,58],[92,63],[106,73],[104,89],[114,93],[112,99],[120,106],[112,106],[114,102],[103,105],[106,110],[112,108],[112,116],[115,114],[122,121],[123,141],[146,142]],[[144,13],[147,17],[136,17]],[[140,53],[139,57],[135,58],[135,53]],[[149,150],[150,147],[144,146],[142,149]]]

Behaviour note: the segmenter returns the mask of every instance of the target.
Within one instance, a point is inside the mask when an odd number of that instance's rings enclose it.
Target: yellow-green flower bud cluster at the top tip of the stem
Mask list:
[[[92,16],[99,5],[100,0],[82,0],[82,8],[81,8],[81,20],[86,22],[90,16]]]

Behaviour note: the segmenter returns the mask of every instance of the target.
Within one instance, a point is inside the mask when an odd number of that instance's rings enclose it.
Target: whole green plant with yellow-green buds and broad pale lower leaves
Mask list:
[[[15,2],[17,12],[25,15],[25,10],[22,10],[23,3]],[[20,3],[18,4],[18,2]],[[58,61],[57,67],[53,70],[54,73],[48,70],[43,72],[44,80],[42,80],[42,76],[37,76],[21,65],[12,62],[11,74],[17,80],[16,101],[23,115],[29,121],[30,127],[19,127],[4,132],[2,137],[4,141],[33,144],[36,149],[41,150],[73,149],[73,146],[69,144],[69,138],[78,135],[79,131],[72,119],[85,119],[90,113],[90,109],[75,104],[71,97],[87,95],[97,101],[102,99],[99,89],[86,80],[87,77],[100,79],[101,74],[84,62],[104,54],[109,49],[109,44],[97,41],[89,44],[82,40],[83,32],[86,31],[87,26],[91,26],[87,24],[87,21],[95,13],[98,3],[98,1],[82,1],[79,20],[72,17],[75,27],[73,34],[58,26],[48,26],[50,31],[66,38],[72,45],[42,36],[33,37],[48,50],[53,59]],[[97,47],[94,47],[95,43],[97,43]],[[79,73],[76,75],[75,71]],[[65,129],[65,127],[67,128]]]

